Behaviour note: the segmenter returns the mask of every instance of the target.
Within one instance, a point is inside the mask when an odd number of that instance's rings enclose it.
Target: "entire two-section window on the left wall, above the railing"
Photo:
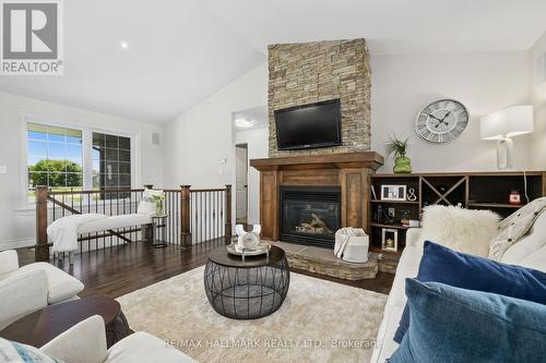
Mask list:
[[[52,191],[131,187],[131,137],[34,121],[25,123],[28,202],[38,185]]]

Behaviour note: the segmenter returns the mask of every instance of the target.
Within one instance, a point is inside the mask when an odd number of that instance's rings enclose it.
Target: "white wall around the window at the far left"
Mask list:
[[[21,195],[25,193],[21,168],[26,165],[20,152],[25,143],[21,133],[21,112],[67,125],[134,135],[138,141],[135,157],[142,160],[140,170],[135,170],[134,182],[163,184],[162,149],[152,145],[152,133],[162,133],[161,125],[0,93],[0,166],[8,168],[8,173],[0,174],[0,250],[35,243],[35,213],[21,205]]]

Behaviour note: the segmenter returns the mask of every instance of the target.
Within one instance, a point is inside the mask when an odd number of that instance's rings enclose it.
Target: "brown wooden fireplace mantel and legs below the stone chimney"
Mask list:
[[[383,165],[375,152],[252,159],[260,171],[262,238],[278,241],[280,189],[283,185],[340,186],[341,226],[367,232],[371,174]]]

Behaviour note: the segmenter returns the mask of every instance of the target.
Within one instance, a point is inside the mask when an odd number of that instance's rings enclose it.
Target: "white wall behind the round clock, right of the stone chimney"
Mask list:
[[[479,118],[510,105],[529,102],[525,51],[372,58],[372,148],[383,154],[396,133],[411,137],[415,172],[496,170],[496,142],[482,141]],[[415,117],[429,102],[454,98],[466,106],[471,121],[450,144],[434,145],[414,132]],[[530,136],[514,138],[515,167],[529,168]],[[392,157],[381,172],[392,172]]]

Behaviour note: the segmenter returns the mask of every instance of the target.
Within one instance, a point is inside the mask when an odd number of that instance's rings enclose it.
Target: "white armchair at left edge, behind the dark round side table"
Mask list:
[[[48,304],[78,299],[83,288],[80,280],[48,263],[19,267],[15,251],[0,252],[0,330]]]

